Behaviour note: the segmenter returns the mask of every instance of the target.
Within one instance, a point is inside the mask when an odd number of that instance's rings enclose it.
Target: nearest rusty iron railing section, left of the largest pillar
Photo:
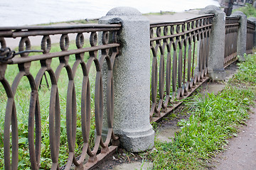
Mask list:
[[[117,35],[121,29],[120,25],[79,25],[79,26],[25,26],[25,27],[7,27],[0,28],[0,81],[4,87],[4,91],[8,100],[6,101],[6,111],[4,119],[4,168],[18,169],[18,127],[16,97],[17,87],[21,78],[27,77],[30,84],[28,89],[31,92],[30,104],[28,106],[28,149],[31,161],[31,169],[40,169],[41,165],[41,103],[38,99],[38,89],[45,74],[50,77],[50,106],[48,109],[48,130],[50,137],[50,157],[52,160],[51,169],[58,169],[60,164],[59,149],[60,149],[60,96],[58,93],[58,80],[60,72],[68,75],[67,97],[66,100],[66,130],[68,145],[68,160],[66,160],[63,169],[70,169],[75,166],[78,169],[89,169],[97,161],[105,157],[106,154],[113,152],[118,143],[118,137],[114,136],[112,130],[113,107],[114,107],[114,91],[112,69],[114,59],[118,55],[119,43]],[[75,49],[70,49],[69,35],[76,34],[74,43]],[[90,45],[84,45],[85,34],[89,33]],[[60,49],[58,52],[51,52],[51,38],[53,35],[60,36]],[[102,39],[98,42],[98,35],[102,35]],[[41,50],[31,50],[32,36],[42,37]],[[18,52],[11,50],[6,39],[21,38],[18,45]],[[89,41],[89,40],[88,40]],[[31,52],[33,55],[30,55]],[[85,62],[85,54],[89,58]],[[101,57],[99,57],[99,54]],[[73,67],[69,60],[73,57]],[[52,61],[54,58],[59,60],[57,69],[53,70]],[[33,77],[31,74],[31,64],[40,62],[41,66]],[[106,112],[108,120],[108,132],[106,140],[102,139],[102,117],[103,117],[103,86],[102,85],[102,65],[107,63],[107,87],[106,87]],[[6,79],[6,68],[9,65],[18,67],[18,74],[14,81],[10,83]],[[95,65],[95,144],[90,147],[90,120],[91,120],[91,83],[89,81],[89,72],[92,70],[92,65]],[[78,106],[77,101],[77,84],[75,84],[75,76],[78,74],[78,67],[82,72],[82,91],[80,91]],[[41,106],[41,107],[40,107]],[[79,109],[78,109],[79,108]],[[78,113],[79,110],[79,113]],[[80,115],[80,124],[82,131],[82,146],[81,154],[75,154],[76,133],[77,130],[77,115]],[[11,133],[10,133],[11,129]],[[10,139],[11,138],[11,139]],[[92,141],[93,142],[93,141]],[[11,146],[10,146],[11,145]],[[111,145],[111,146],[110,146]],[[99,149],[101,152],[99,153]],[[10,155],[11,154],[11,155]],[[85,156],[89,159],[85,162]]]

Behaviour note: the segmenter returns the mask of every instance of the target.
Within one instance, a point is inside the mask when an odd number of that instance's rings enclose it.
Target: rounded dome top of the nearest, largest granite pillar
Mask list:
[[[142,16],[136,8],[121,6],[117,8],[112,8],[108,11],[106,16]]]

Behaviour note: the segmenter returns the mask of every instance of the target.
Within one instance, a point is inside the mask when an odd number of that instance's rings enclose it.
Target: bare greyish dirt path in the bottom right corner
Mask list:
[[[256,169],[256,108],[252,108],[247,126],[240,129],[238,137],[230,139],[227,151],[218,154],[213,162],[213,169]]]

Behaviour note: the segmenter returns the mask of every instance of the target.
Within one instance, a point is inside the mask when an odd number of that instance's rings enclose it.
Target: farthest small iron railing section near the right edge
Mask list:
[[[251,54],[253,48],[253,36],[255,32],[255,23],[247,20],[246,53]]]

